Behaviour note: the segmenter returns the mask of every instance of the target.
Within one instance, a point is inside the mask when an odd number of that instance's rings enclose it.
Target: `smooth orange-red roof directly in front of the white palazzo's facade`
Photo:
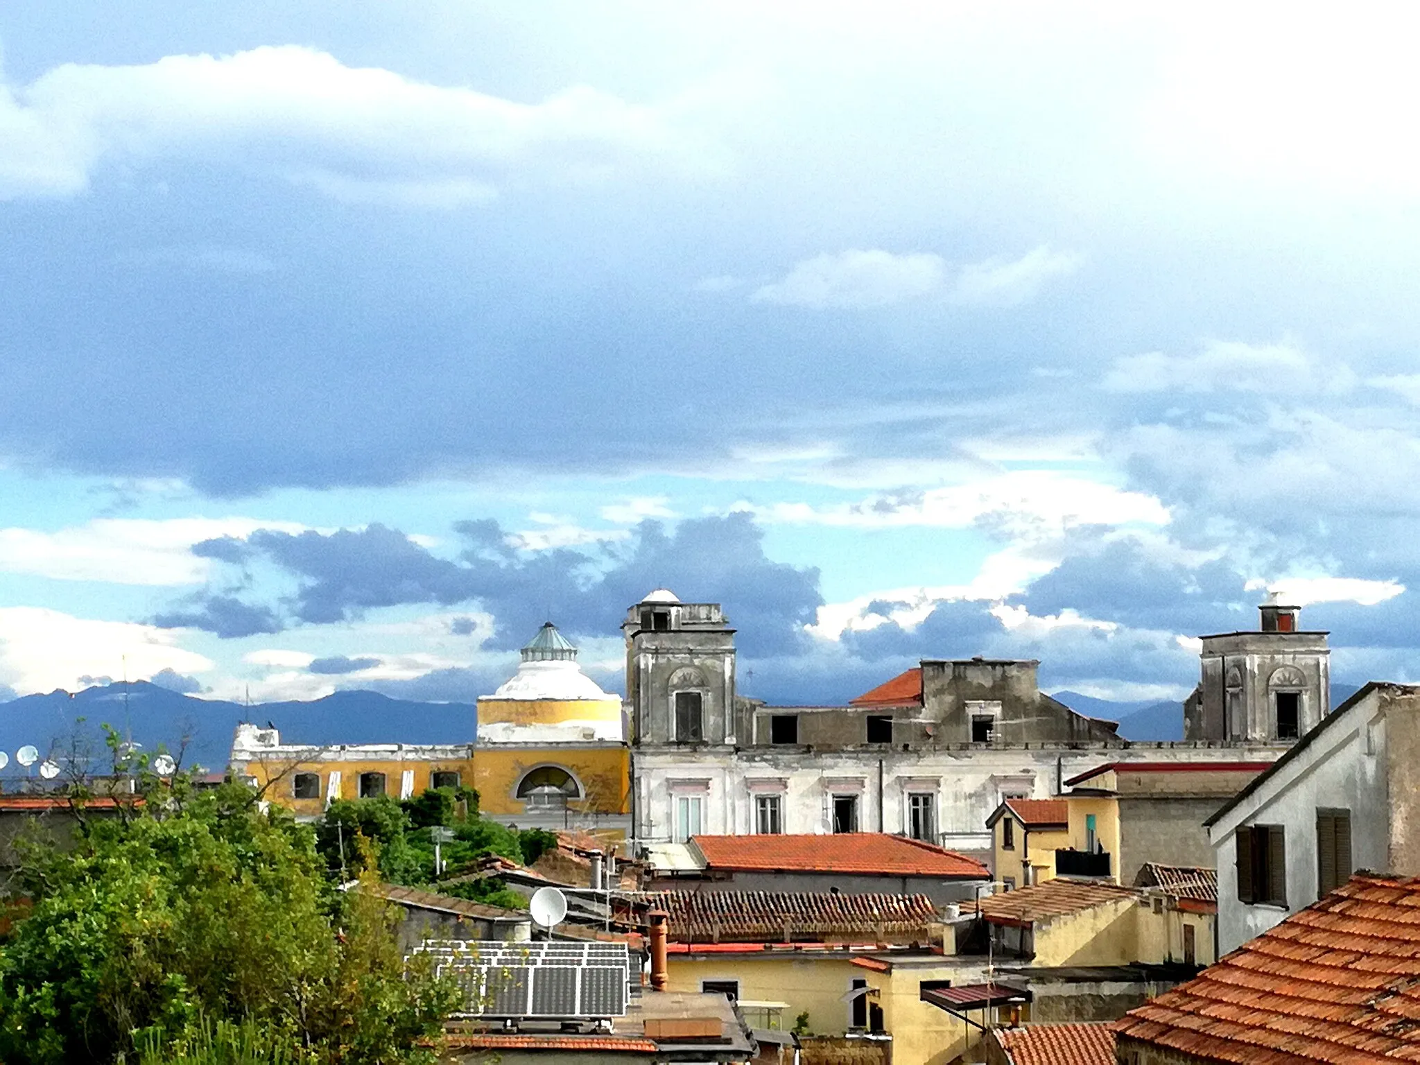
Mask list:
[[[836,835],[694,836],[711,870],[859,873],[865,876],[934,876],[985,880],[990,870],[973,858],[882,832]]]

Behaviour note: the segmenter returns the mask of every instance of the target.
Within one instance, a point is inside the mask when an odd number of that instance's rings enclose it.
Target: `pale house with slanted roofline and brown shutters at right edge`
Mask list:
[[[1366,684],[1207,826],[1220,953],[1353,870],[1420,875],[1420,686]]]

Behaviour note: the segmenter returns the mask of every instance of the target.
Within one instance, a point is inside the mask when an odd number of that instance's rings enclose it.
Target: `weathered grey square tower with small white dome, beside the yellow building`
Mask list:
[[[626,701],[638,746],[734,746],[734,629],[720,604],[657,588],[626,612]]]

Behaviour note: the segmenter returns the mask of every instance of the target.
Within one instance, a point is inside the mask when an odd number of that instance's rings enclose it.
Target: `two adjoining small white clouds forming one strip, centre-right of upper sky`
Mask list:
[[[923,297],[1005,307],[1034,298],[1047,280],[1074,273],[1079,261],[1078,256],[1055,253],[1042,244],[1020,258],[988,258],[953,274],[947,261],[930,251],[853,248],[807,258],[750,298],[815,310],[888,307]]]

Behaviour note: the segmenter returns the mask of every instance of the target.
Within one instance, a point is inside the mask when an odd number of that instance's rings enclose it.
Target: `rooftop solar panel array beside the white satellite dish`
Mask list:
[[[420,950],[463,985],[463,1012],[476,1017],[625,1017],[636,974],[625,943],[425,940]]]

